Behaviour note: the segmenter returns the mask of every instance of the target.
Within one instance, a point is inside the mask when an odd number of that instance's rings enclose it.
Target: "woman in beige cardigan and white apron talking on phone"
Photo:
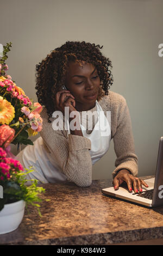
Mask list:
[[[36,65],[35,89],[44,106],[43,129],[34,146],[28,145],[17,158],[25,168],[34,167],[29,178],[90,186],[92,164],[108,151],[113,138],[117,155],[114,188],[124,181],[128,190],[136,193],[142,191],[142,184],[148,185],[135,177],[137,156],[129,110],[123,96],[109,91],[112,66],[100,48],[84,41],[68,41]],[[58,128],[54,125],[57,113],[62,118]],[[107,113],[111,113],[111,124]]]

